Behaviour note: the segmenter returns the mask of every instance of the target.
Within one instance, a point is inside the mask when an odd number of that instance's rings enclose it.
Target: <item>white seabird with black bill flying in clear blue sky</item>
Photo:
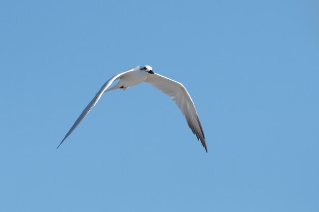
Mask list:
[[[109,88],[115,80],[119,80],[119,82],[113,87]],[[207,153],[207,145],[202,125],[200,124],[194,102],[187,92],[187,89],[177,81],[154,73],[153,68],[147,65],[131,68],[128,71],[111,77],[111,79],[105,82],[100,90],[96,93],[94,98],[91,100],[91,102],[86,106],[86,108],[84,108],[81,115],[79,115],[78,118],[75,120],[75,123],[73,124],[69,132],[64,136],[59,146],[73,132],[78,124],[81,123],[83,118],[87,116],[87,114],[92,110],[92,108],[96,105],[98,100],[105,92],[109,92],[110,90],[114,90],[117,88],[125,90],[128,87],[140,84],[141,82],[146,82],[156,87],[172,98],[172,100],[176,103],[178,108],[185,116],[187,124],[191,128],[192,132],[196,135],[197,140],[201,141]],[[59,146],[57,148],[59,148]]]

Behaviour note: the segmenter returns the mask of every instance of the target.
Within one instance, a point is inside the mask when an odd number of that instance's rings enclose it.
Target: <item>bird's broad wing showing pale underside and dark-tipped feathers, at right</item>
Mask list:
[[[187,92],[187,89],[181,83],[156,73],[149,74],[145,82],[156,87],[172,98],[185,116],[192,132],[196,135],[197,139],[202,142],[207,153],[204,132],[200,124],[194,102]]]

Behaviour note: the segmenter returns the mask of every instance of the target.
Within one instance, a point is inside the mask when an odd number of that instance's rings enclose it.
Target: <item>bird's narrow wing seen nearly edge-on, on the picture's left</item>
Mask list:
[[[78,116],[78,118],[76,119],[76,121],[74,122],[73,126],[71,127],[71,129],[69,130],[69,132],[64,136],[63,140],[61,141],[61,143],[59,144],[59,146],[63,143],[63,141],[73,132],[73,130],[78,126],[79,123],[81,123],[81,121],[83,120],[83,118],[92,110],[92,108],[95,106],[95,104],[97,103],[97,101],[101,98],[102,94],[105,92],[105,90],[108,89],[108,87],[113,83],[113,81],[121,78],[124,74],[131,72],[132,70],[128,70],[126,72],[123,72],[121,74],[117,74],[115,76],[113,76],[111,79],[109,79],[107,82],[105,82],[102,87],[100,88],[100,90],[96,93],[96,95],[94,96],[94,98],[91,100],[91,102],[86,106],[86,108],[84,108],[84,110],[82,111],[81,115]],[[59,148],[59,146],[57,148]]]

